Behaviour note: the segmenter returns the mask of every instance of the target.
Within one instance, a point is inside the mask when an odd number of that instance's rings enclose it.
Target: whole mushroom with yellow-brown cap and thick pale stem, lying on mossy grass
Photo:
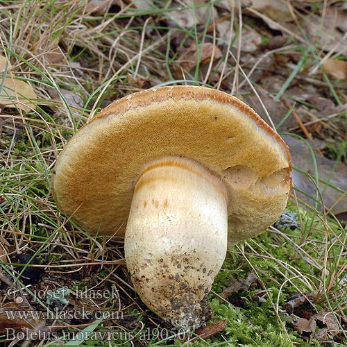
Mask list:
[[[290,187],[278,133],[234,96],[192,86],[115,101],[71,137],[52,177],[59,208],[124,238],[139,297],[187,330],[210,319],[227,247],[274,223]]]

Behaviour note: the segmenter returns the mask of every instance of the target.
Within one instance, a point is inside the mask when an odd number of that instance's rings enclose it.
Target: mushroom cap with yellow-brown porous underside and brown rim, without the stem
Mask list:
[[[101,110],[60,153],[53,196],[84,230],[124,237],[139,172],[166,155],[196,160],[226,184],[229,244],[266,230],[285,209],[285,142],[236,97],[193,86],[144,90]]]

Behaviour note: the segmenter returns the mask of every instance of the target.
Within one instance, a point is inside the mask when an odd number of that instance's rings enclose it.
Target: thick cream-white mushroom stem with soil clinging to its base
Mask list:
[[[167,156],[137,177],[124,240],[142,301],[176,328],[211,316],[207,301],[226,257],[228,191],[194,160]]]

